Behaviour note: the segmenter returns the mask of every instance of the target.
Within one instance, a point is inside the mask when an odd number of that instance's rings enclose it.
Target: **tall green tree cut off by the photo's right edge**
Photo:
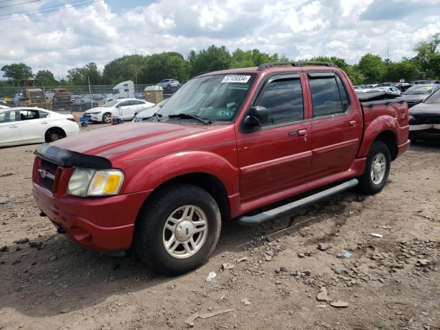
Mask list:
[[[415,63],[420,68],[423,77],[419,78],[439,78],[440,77],[440,33],[430,36],[425,41],[415,45],[414,50],[417,55]]]

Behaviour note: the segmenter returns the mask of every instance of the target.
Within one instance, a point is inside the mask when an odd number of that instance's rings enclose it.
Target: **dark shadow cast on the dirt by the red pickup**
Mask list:
[[[344,192],[256,227],[243,227],[235,221],[223,223],[214,256],[261,245],[267,236],[276,239],[277,235],[296,234],[311,223],[331,218],[332,214],[349,217],[346,206],[360,199],[355,192]],[[343,223],[335,222],[335,226]],[[179,278],[157,276],[131,252],[120,258],[90,252],[59,234],[16,241],[3,250],[0,253],[1,305],[33,317],[54,316],[62,309],[85,309],[110,296],[138,292],[193,274]]]

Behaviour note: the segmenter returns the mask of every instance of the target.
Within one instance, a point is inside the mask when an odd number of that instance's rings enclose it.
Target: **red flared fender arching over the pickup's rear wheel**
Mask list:
[[[397,121],[391,115],[381,115],[370,122],[364,131],[364,138],[357,157],[366,157],[375,138],[384,131],[391,131],[397,142],[397,129],[399,129]]]

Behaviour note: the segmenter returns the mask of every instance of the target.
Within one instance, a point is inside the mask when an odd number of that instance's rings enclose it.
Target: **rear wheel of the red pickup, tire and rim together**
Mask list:
[[[364,174],[359,177],[359,187],[362,192],[374,195],[384,188],[390,174],[390,149],[384,142],[376,141],[366,156]]]

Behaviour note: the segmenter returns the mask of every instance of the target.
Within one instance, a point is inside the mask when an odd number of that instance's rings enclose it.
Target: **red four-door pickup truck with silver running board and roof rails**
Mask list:
[[[150,120],[39,146],[34,197],[84,248],[133,247],[182,274],[206,261],[222,221],[261,223],[356,185],[379,192],[408,131],[406,102],[361,103],[332,63],[211,72]]]

